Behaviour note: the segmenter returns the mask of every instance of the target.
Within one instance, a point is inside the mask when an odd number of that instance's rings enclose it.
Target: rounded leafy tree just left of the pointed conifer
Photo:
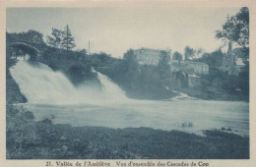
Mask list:
[[[51,36],[47,35],[46,42],[53,47],[59,48],[61,46],[63,33],[63,30],[52,28]]]

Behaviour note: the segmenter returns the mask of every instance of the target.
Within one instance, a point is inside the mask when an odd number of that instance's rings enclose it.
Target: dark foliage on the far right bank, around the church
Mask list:
[[[236,48],[233,52],[240,57],[243,56],[243,49]],[[233,53],[232,52],[232,53]],[[212,53],[205,53],[201,58],[194,59],[193,61],[207,63],[209,65],[209,75],[204,76],[206,87],[220,87],[224,92],[233,94],[241,99],[249,99],[249,69],[245,65],[241,69],[238,76],[228,75],[227,72],[222,70],[223,59],[226,53],[221,49]],[[245,63],[247,61],[244,61]]]

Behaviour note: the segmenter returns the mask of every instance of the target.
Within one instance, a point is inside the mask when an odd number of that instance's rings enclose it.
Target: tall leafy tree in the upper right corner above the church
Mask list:
[[[216,37],[226,42],[238,44],[244,49],[247,59],[249,56],[249,9],[243,7],[240,11],[230,18],[227,18],[223,29],[216,31]]]

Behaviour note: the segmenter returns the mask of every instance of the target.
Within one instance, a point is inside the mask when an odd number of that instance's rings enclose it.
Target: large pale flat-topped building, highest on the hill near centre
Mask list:
[[[134,55],[136,60],[141,65],[154,65],[158,66],[160,62],[160,57],[165,54],[170,56],[170,50],[160,50],[160,49],[150,49],[144,48],[134,50]]]

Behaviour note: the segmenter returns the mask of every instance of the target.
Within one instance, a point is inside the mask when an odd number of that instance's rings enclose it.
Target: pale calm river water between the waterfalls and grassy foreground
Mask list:
[[[247,102],[205,100],[129,100],[81,105],[24,104],[37,121],[54,115],[54,124],[109,128],[149,127],[202,135],[203,130],[229,129],[249,136]]]

